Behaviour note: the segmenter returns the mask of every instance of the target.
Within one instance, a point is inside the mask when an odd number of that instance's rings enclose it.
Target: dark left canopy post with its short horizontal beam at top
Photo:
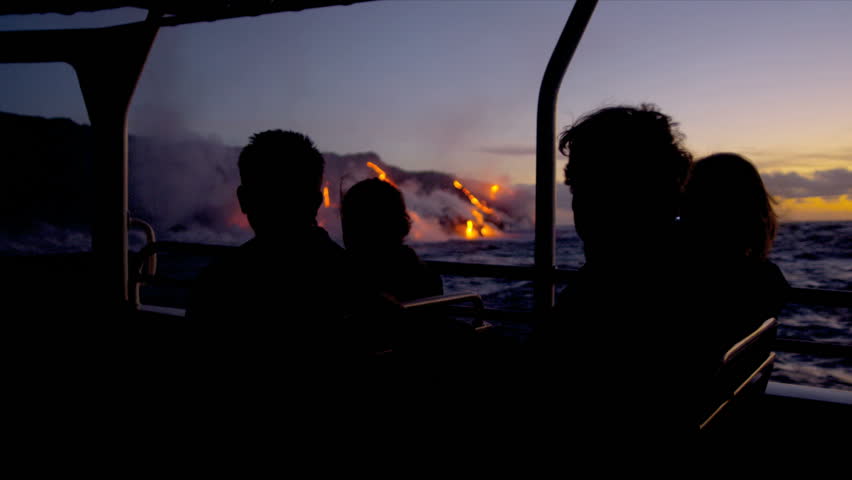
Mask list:
[[[127,111],[159,26],[0,32],[0,62],[64,62],[77,74],[95,136],[93,300],[106,313],[128,304]],[[121,45],[116,52],[104,45]]]

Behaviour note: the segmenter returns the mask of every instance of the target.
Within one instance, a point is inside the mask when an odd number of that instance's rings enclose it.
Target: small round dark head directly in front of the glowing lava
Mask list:
[[[362,180],[346,191],[340,217],[347,249],[401,245],[411,231],[402,192],[378,178]]]

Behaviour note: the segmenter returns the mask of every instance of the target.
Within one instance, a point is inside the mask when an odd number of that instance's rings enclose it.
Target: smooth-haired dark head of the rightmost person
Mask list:
[[[751,162],[717,153],[693,165],[682,216],[695,240],[716,253],[764,259],[777,227],[773,202]]]

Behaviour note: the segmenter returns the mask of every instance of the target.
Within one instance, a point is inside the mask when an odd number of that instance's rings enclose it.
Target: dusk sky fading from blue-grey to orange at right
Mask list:
[[[257,131],[293,129],[322,151],[532,184],[538,88],[572,5],[386,0],[165,27],[130,132],[243,145]],[[144,17],[12,15],[0,30]],[[565,75],[558,125],[653,103],[696,157],[752,160],[782,220],[852,220],[849,45],[849,1],[604,0]],[[0,111],[88,123],[64,64],[0,65]]]

